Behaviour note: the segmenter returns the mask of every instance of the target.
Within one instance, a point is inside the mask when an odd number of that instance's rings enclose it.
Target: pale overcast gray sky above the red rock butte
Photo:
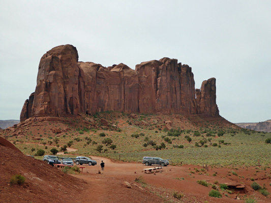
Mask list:
[[[217,79],[225,119],[271,119],[270,11],[270,0],[1,0],[0,120],[19,119],[40,58],[64,44],[104,66],[176,58],[192,67],[196,88]]]

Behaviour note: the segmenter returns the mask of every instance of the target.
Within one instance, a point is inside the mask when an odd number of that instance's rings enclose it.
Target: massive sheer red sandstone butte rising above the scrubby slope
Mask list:
[[[20,120],[102,111],[218,116],[216,79],[195,89],[191,67],[177,59],[142,62],[135,70],[123,63],[104,67],[78,62],[76,48],[62,45],[42,56],[36,90],[26,99]]]

